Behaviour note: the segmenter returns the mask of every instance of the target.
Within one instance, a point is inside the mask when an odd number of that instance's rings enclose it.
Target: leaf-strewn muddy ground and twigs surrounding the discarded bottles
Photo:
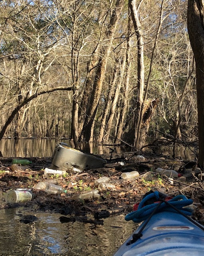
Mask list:
[[[204,223],[204,185],[199,172],[195,173],[196,162],[143,154],[138,158],[133,152],[112,155],[112,162],[103,168],[86,170],[81,173],[68,173],[66,176],[44,177],[44,169],[51,165],[51,158],[29,158],[32,164],[24,170],[11,170],[12,158],[0,158],[0,209],[28,207],[32,211],[56,212],[62,214],[62,221],[81,221],[102,224],[102,217],[112,214],[128,214],[133,205],[142,200],[150,190],[159,191],[169,196],[185,195],[193,200],[193,218]],[[110,155],[104,156],[110,159]],[[24,158],[25,159],[25,158]],[[28,159],[28,158],[27,158]],[[114,161],[115,159],[115,161]],[[124,166],[118,162],[125,159]],[[171,178],[155,172],[155,169],[168,168],[184,174],[180,178]],[[137,170],[139,177],[123,180],[123,172]],[[201,173],[201,172],[200,172]],[[185,174],[188,174],[185,176]],[[99,191],[100,198],[73,200],[72,197],[84,191],[97,189],[94,180],[108,176],[108,183],[115,188]],[[202,177],[202,176],[201,176]],[[33,190],[38,182],[49,182],[62,186],[66,193],[47,194],[43,190]],[[5,194],[17,188],[31,189],[35,198],[30,202],[7,204]],[[66,217],[65,217],[66,216]],[[89,216],[89,217],[87,217]],[[90,216],[92,216],[90,218]],[[101,216],[101,218],[100,218]],[[31,220],[32,221],[32,220]]]

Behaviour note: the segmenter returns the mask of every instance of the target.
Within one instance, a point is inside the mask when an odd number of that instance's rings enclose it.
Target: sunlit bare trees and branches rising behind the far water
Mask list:
[[[195,140],[186,1],[0,4],[0,138]]]

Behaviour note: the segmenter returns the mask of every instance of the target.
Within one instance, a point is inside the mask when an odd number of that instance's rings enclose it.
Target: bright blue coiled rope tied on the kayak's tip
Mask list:
[[[157,205],[159,204],[159,203],[154,203],[154,204],[149,204],[149,205],[143,207],[145,202],[151,198],[156,198],[156,200],[159,201],[159,199],[160,199],[159,192],[155,191],[155,192],[145,196],[145,198],[143,198],[143,200],[141,200],[137,210],[127,214],[125,217],[125,220],[133,220],[133,222],[136,222],[136,223],[146,220],[151,215],[151,213],[154,211],[154,209],[157,207]],[[193,203],[193,200],[187,199],[186,196],[183,196],[183,195],[175,196],[174,198],[170,199],[168,202],[171,205],[175,206],[177,209],[179,209],[182,213],[184,213],[188,216],[192,215],[192,209],[183,208],[184,206],[187,206],[187,205],[190,205]],[[161,205],[157,209],[157,212],[162,212],[162,211],[177,212],[171,206],[168,206],[165,202],[161,203]]]

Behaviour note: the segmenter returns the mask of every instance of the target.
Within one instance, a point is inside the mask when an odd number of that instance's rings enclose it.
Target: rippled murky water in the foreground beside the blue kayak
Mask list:
[[[38,220],[24,224],[22,215]],[[136,228],[124,215],[106,218],[104,225],[61,223],[60,216],[25,208],[0,210],[0,255],[111,256]]]

